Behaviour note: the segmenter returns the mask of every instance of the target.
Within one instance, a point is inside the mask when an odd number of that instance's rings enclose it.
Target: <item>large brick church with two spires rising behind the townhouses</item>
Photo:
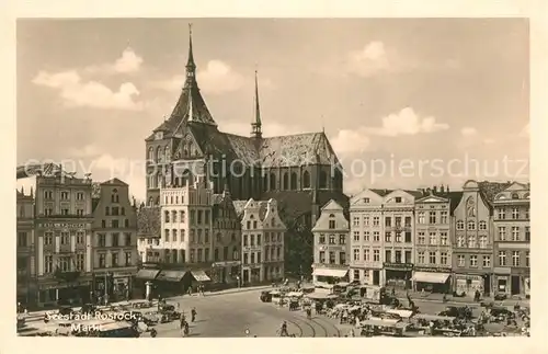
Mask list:
[[[192,30],[189,37],[179,100],[145,139],[147,205],[159,205],[161,187],[192,184],[199,176],[216,194],[228,187],[233,199],[274,198],[286,217],[304,217],[307,226],[330,199],[346,205],[341,165],[324,132],[263,137],[256,72],[250,135],[218,129],[196,79]]]

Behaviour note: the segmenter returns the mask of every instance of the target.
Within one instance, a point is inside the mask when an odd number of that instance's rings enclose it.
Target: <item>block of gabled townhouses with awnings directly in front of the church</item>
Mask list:
[[[141,207],[136,279],[180,294],[195,283],[218,286],[278,281],[284,276],[286,227],[277,203],[232,201],[228,186],[215,194],[204,178],[160,190],[160,205]]]

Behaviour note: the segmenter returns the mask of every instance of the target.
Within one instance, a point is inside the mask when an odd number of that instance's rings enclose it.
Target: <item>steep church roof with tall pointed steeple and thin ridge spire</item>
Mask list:
[[[164,138],[182,138],[190,133],[204,155],[225,155],[228,160],[240,160],[248,167],[340,165],[323,132],[263,138],[256,71],[254,91],[255,112],[251,123],[251,136],[219,132],[199,93],[191,31],[184,87],[171,116],[153,132],[163,132]],[[153,134],[147,138],[151,139]],[[176,150],[182,152],[184,140],[179,142],[175,139],[175,142]],[[178,156],[176,151],[173,151],[173,156]]]

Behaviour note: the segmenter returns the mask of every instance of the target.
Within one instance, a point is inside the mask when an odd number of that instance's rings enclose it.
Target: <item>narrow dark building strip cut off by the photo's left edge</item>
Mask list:
[[[36,250],[34,244],[34,194],[16,191],[16,294],[18,302],[36,304]]]

